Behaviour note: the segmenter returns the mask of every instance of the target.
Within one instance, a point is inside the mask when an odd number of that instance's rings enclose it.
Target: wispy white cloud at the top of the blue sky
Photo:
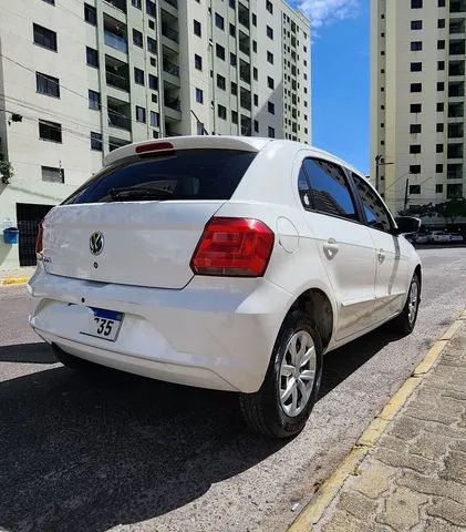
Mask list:
[[[360,10],[359,0],[298,0],[296,4],[310,17],[313,29],[335,20],[353,19]]]

